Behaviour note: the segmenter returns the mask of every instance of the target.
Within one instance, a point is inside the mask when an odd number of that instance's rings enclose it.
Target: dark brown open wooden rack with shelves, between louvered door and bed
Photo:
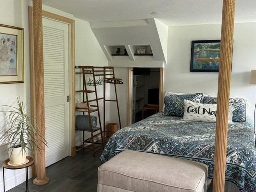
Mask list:
[[[104,96],[102,98],[98,98],[97,95],[97,88],[96,85],[94,84],[94,90],[88,90],[86,87],[86,75],[91,74],[93,76],[93,80],[95,82],[95,76],[104,76],[104,80],[106,79],[115,79],[115,80],[122,80],[120,78],[112,78],[114,77],[114,67],[98,67],[98,66],[76,66],[76,69],[82,70],[82,72],[76,72],[76,74],[82,74],[83,75],[83,90],[78,90],[76,92],[83,93],[83,102],[87,104],[87,108],[78,108],[76,107],[76,111],[83,112],[88,112],[88,116],[90,119],[90,113],[91,112],[98,112],[98,120],[100,122],[100,128],[96,130],[92,130],[91,122],[90,122],[90,132],[91,132],[91,137],[88,139],[84,139],[84,131],[86,130],[81,130],[83,131],[83,144],[82,146],[76,147],[77,149],[82,149],[86,151],[92,151],[94,152],[94,157],[95,153],[99,150],[101,150],[106,142],[108,142],[109,138],[114,134],[114,132],[110,132],[106,130],[106,102],[116,102],[117,105],[117,111],[118,111],[118,119],[119,119],[119,127],[121,128],[121,119],[120,119],[120,111],[119,111],[119,106],[118,106],[118,99],[117,99],[117,92],[116,92],[116,84],[114,84],[115,88],[115,96],[116,98],[114,100],[107,100],[106,99],[106,83],[104,82]],[[95,74],[95,72],[103,72],[103,74]],[[112,77],[109,77],[112,76]],[[88,93],[95,93],[96,98],[95,99],[88,99]],[[86,97],[84,97],[86,95]],[[100,110],[98,106],[98,100],[104,100],[104,127],[102,131],[101,127],[101,121],[100,121]],[[95,102],[96,105],[90,105],[90,102]],[[96,107],[96,109],[91,109],[90,107]],[[76,129],[78,130],[78,129]],[[100,130],[100,133],[93,134],[94,132]],[[86,143],[89,143],[86,144]],[[100,145],[100,146],[96,146]]]

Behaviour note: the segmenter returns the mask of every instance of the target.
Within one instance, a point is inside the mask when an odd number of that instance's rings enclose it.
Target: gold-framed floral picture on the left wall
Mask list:
[[[24,83],[24,29],[0,24],[0,84]]]

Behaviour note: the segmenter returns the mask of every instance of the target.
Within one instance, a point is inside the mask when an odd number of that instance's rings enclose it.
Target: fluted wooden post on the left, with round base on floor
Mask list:
[[[42,137],[44,130],[44,63],[43,63],[43,26],[42,26],[42,0],[33,0],[33,29],[34,29],[34,76],[35,76],[35,118]],[[45,170],[45,145],[40,142],[40,151],[36,152],[36,178],[34,184],[44,185],[49,182]]]

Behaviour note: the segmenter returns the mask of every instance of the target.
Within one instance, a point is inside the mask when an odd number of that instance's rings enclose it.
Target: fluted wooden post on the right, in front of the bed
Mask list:
[[[223,0],[213,192],[224,192],[235,0]]]

